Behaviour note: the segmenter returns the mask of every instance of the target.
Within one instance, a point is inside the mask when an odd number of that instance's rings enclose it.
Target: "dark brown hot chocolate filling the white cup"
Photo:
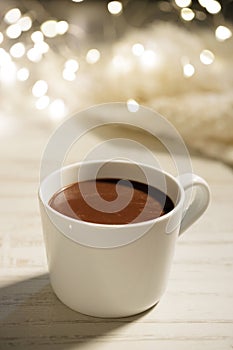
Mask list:
[[[136,181],[131,181],[133,187],[130,187],[128,181],[121,180],[120,183],[118,181],[119,179],[98,179],[73,183],[56,192],[50,199],[49,205],[71,218],[98,224],[148,221],[174,208],[171,199],[155,187]],[[98,192],[93,191],[95,185]],[[130,194],[131,197],[129,197]],[[105,200],[105,206],[96,209],[93,205],[89,205],[91,203],[96,207],[99,198]],[[131,200],[124,205],[127,198]],[[116,199],[120,210],[106,212],[111,211],[111,203]]]

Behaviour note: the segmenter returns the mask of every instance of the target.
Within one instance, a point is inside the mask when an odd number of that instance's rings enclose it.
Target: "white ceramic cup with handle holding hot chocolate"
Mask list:
[[[101,161],[87,162],[83,179],[93,179],[96,166],[101,166]],[[155,305],[163,295],[176,239],[207,208],[209,187],[194,174],[175,178],[151,166],[111,161],[101,169],[100,177],[145,182],[143,173],[146,173],[152,179],[150,185],[159,188],[158,178],[162,176],[166,194],[175,206],[169,213],[150,221],[95,224],[64,216],[48,205],[57,190],[77,181],[80,167],[81,163],[77,163],[53,172],[39,189],[53,290],[64,304],[83,314],[123,317],[140,313]],[[193,187],[196,188],[194,199],[185,210],[186,191]]]

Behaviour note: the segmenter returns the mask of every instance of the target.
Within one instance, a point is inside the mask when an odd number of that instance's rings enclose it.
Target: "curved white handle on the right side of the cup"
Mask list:
[[[210,202],[210,188],[207,182],[195,174],[183,174],[179,176],[179,181],[186,192],[188,189],[196,188],[196,193],[192,203],[184,209],[184,216],[180,225],[181,235],[187,230],[207,209]]]

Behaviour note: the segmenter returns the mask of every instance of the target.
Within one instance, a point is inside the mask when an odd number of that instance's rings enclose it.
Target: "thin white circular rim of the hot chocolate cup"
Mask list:
[[[91,160],[91,161],[86,161],[85,164],[96,164],[96,163],[102,163],[103,161],[106,162],[106,160]],[[40,183],[40,186],[39,186],[39,189],[38,189],[38,197],[40,199],[40,201],[43,203],[44,207],[46,210],[48,211],[51,211],[54,215],[57,215],[58,217],[60,218],[63,218],[64,220],[69,220],[69,222],[73,222],[73,223],[80,223],[81,225],[87,225],[87,226],[91,226],[91,227],[105,227],[105,228],[122,228],[122,227],[139,227],[139,226],[145,226],[145,225],[152,225],[152,224],[155,224],[157,222],[160,222],[160,221],[164,221],[166,220],[167,218],[169,218],[170,216],[174,215],[179,209],[180,209],[180,206],[183,202],[183,199],[184,199],[184,189],[182,187],[182,185],[179,183],[178,179],[176,177],[174,177],[173,175],[169,174],[167,171],[164,171],[162,169],[159,169],[159,168],[155,168],[151,165],[148,165],[148,164],[145,164],[145,163],[131,163],[127,160],[108,160],[108,162],[110,163],[127,163],[127,164],[136,164],[136,165],[139,165],[139,166],[142,166],[142,167],[146,167],[146,168],[150,168],[152,170],[155,170],[155,171],[158,171],[158,172],[161,172],[163,173],[163,175],[165,175],[166,177],[168,177],[170,180],[172,180],[176,186],[178,187],[179,189],[179,197],[178,197],[178,201],[177,203],[173,203],[174,204],[174,208],[172,210],[170,210],[168,213],[162,215],[162,216],[159,216],[157,218],[153,218],[153,219],[150,219],[150,220],[146,220],[146,221],[140,221],[140,222],[131,222],[131,223],[128,223],[128,224],[100,224],[100,223],[95,223],[95,222],[89,222],[89,221],[84,221],[84,220],[80,220],[80,219],[75,219],[75,218],[71,218],[65,214],[62,214],[60,212],[58,212],[57,210],[53,209],[52,207],[50,207],[50,205],[45,202],[43,200],[43,196],[42,196],[42,186],[44,184],[44,182],[50,177],[50,176],[53,176],[55,175],[56,173],[60,173],[61,171],[65,171],[65,170],[68,170],[68,169],[71,169],[71,168],[75,168],[75,167],[78,167],[80,164],[83,164],[84,162],[80,161],[80,162],[76,162],[76,163],[72,163],[72,164],[69,164],[69,165],[66,165],[64,167],[61,167],[55,171],[53,171],[52,173],[50,173],[48,176],[46,176]]]

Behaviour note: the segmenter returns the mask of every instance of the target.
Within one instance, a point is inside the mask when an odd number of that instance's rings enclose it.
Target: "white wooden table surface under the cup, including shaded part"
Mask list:
[[[26,118],[0,134],[0,349],[232,349],[232,171],[193,157],[212,201],[179,239],[160,303],[134,317],[92,318],[64,306],[49,284],[37,188],[50,132]]]

